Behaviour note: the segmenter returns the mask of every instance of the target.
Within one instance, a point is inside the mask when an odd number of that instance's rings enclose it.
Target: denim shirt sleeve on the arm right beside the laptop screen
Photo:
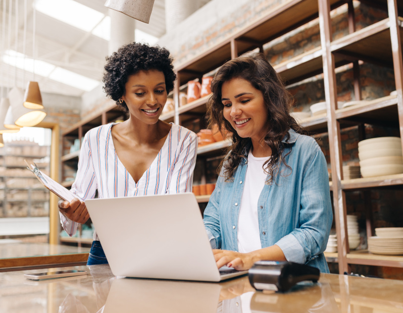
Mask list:
[[[221,249],[219,208],[222,184],[223,177],[219,176],[215,189],[210,196],[210,200],[208,201],[207,207],[204,209],[203,222],[212,249]]]

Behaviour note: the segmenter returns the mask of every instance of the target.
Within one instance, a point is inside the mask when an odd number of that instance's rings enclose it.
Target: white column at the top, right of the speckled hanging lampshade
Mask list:
[[[199,2],[199,0],[165,0],[166,33],[195,12],[200,6]]]

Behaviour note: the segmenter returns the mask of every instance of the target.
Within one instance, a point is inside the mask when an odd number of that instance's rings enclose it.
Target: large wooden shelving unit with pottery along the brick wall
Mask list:
[[[402,256],[380,256],[365,251],[350,252],[347,240],[345,194],[347,191],[403,186],[403,174],[352,180],[343,179],[341,129],[363,123],[388,125],[400,129],[400,135],[403,138],[403,19],[398,14],[399,12],[400,15],[403,15],[403,0],[361,0],[361,2],[383,8],[388,12],[388,18],[355,31],[352,0],[288,0],[277,5],[253,25],[177,66],[175,71],[178,79],[173,91],[176,109],[160,117],[161,120],[173,121],[177,124],[184,124],[195,118],[203,117],[206,112],[205,104],[208,97],[179,106],[179,92],[184,89],[188,81],[201,80],[204,74],[215,70],[227,60],[235,58],[243,52],[256,48],[263,52],[264,44],[319,17],[320,46],[277,64],[275,69],[286,81],[286,84],[299,82],[317,74],[323,74],[324,77],[325,98],[328,104],[327,114],[304,120],[302,126],[311,132],[328,133],[332,170],[332,181],[329,183],[329,188],[333,191],[339,252],[326,253],[325,256],[328,261],[339,263],[340,273],[349,271],[349,264],[403,267]],[[345,3],[350,6],[350,34],[332,40],[330,12]],[[336,68],[353,63],[355,69],[358,66],[358,60],[393,67],[396,90],[400,96],[384,97],[365,105],[336,109]],[[355,99],[360,100],[359,79],[356,77],[354,78],[354,91]],[[115,104],[111,104],[103,112],[74,125],[70,130],[63,133],[63,138],[79,138],[81,140],[89,129],[105,124],[122,114]],[[198,150],[198,158],[219,157],[228,145],[228,141],[223,141],[202,146]],[[74,162],[77,159],[76,153],[65,155],[62,157],[62,166],[64,163]],[[63,184],[71,186],[71,183],[64,182]],[[207,202],[208,199],[209,196],[197,197],[200,203]],[[367,234],[371,235],[371,229],[368,229],[371,227],[369,219],[366,221],[366,225]]]

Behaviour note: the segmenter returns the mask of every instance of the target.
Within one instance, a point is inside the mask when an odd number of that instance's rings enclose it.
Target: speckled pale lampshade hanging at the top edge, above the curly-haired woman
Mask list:
[[[106,0],[104,5],[148,24],[154,0]]]

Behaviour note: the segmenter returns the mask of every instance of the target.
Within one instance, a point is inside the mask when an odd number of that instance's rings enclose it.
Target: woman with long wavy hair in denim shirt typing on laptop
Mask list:
[[[232,146],[204,210],[217,266],[293,261],[329,272],[332,224],[326,159],[290,116],[292,97],[261,53],[225,63],[212,81],[210,126]]]

